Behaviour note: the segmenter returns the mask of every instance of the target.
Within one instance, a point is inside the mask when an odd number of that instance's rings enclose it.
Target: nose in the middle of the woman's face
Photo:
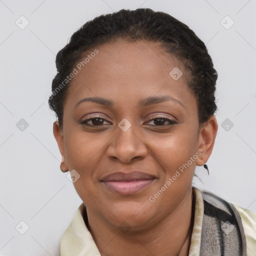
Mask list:
[[[135,158],[144,158],[147,155],[147,149],[143,138],[135,129],[131,127],[123,131],[117,127],[115,135],[107,148],[107,156],[111,160],[119,160],[129,163]]]

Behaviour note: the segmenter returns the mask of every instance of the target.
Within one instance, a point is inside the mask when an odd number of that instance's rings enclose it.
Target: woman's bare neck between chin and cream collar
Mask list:
[[[120,232],[87,209],[83,211],[84,222],[89,229],[101,256],[187,256],[190,247],[194,203],[192,191],[178,206],[150,228],[140,231]]]

